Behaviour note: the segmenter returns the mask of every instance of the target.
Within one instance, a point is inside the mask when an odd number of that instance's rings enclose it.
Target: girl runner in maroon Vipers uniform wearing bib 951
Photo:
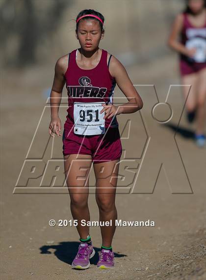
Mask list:
[[[88,268],[89,259],[95,254],[89,226],[81,224],[82,219],[90,221],[88,173],[92,162],[100,221],[112,220],[112,225],[100,225],[102,247],[97,266],[101,269],[114,267],[111,244],[117,219],[115,193],[122,154],[116,115],[134,113],[143,107],[142,99],[125,67],[114,56],[99,48],[104,36],[103,22],[103,15],[95,10],[82,10],[77,15],[76,37],[80,48],[56,62],[51,92],[49,133],[54,137],[54,134],[61,135],[58,108],[66,83],[69,108],[62,140],[71,213],[77,220],[80,237],[78,252],[72,263],[72,267],[77,269]],[[128,103],[113,105],[116,83],[126,95]]]

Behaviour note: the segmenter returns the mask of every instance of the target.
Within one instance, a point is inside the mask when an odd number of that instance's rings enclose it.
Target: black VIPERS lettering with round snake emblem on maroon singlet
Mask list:
[[[93,87],[90,78],[83,76],[78,79],[80,86],[68,86],[67,90],[71,97],[95,97],[103,98],[107,88]]]

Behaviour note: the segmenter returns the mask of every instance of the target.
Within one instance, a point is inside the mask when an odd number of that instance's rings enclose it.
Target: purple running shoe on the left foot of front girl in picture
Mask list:
[[[92,245],[80,242],[78,246],[78,252],[76,257],[72,262],[72,268],[76,269],[86,269],[89,268],[91,259],[95,254],[95,250]]]

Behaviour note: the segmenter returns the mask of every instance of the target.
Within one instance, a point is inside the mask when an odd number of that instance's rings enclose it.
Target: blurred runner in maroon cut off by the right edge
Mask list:
[[[168,44],[180,53],[182,84],[191,85],[186,102],[187,117],[191,123],[196,118],[195,141],[204,147],[206,103],[206,2],[187,0],[186,8],[176,16]],[[180,35],[180,42],[177,40]],[[184,98],[188,87],[183,87]]]

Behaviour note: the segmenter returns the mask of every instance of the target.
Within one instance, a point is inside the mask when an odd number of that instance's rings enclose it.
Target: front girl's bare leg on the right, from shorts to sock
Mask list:
[[[100,221],[112,220],[112,226],[101,226],[102,245],[105,247],[111,246],[116,230],[117,209],[115,195],[119,172],[118,162],[119,160],[112,160],[94,164],[96,201],[99,207]]]

